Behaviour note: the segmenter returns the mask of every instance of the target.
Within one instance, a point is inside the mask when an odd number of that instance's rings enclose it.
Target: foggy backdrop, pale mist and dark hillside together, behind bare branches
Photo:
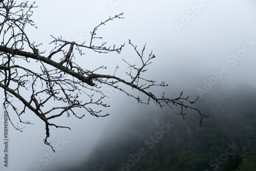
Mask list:
[[[31,42],[42,43],[40,51],[46,56],[54,47],[49,45],[51,35],[89,45],[96,26],[123,12],[123,19],[112,20],[97,32],[108,46],[125,43],[121,53],[99,54],[86,49],[82,56],[74,54],[77,63],[85,70],[107,68],[97,74],[129,78],[123,75],[131,67],[122,59],[137,66],[141,62],[129,39],[140,53],[146,44],[144,56],[153,52],[156,58],[141,76],[168,84],[149,91],[157,97],[165,92],[166,98],[177,98],[182,91],[183,97],[191,100],[199,96],[191,105],[209,117],[203,118],[200,127],[201,117],[195,110],[184,111],[184,120],[175,114],[180,106],[160,108],[153,100],[149,105],[138,104],[133,97],[103,85],[103,92],[110,96],[104,102],[111,106],[98,109],[110,115],[97,118],[77,110],[77,115],[85,114],[82,119],[73,115],[55,118],[54,123],[71,130],[50,127],[49,142],[57,149],[54,153],[44,143],[45,124],[29,110],[21,119],[33,124],[20,123],[10,107],[13,124],[23,132],[9,126],[9,166],[1,160],[1,171],[232,170],[240,159],[240,171],[256,170],[254,1],[45,0],[35,5],[38,8],[33,9],[32,18],[38,29],[28,27],[26,33]],[[29,68],[40,70],[38,65],[31,60]],[[141,92],[124,88],[147,101]],[[2,89],[0,95],[3,103]],[[4,134],[3,123],[1,120],[0,136]]]

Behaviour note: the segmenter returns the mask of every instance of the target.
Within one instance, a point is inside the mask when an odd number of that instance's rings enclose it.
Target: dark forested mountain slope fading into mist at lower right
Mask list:
[[[210,116],[201,127],[197,113],[189,111],[184,121],[166,109],[159,124],[150,119],[152,111],[143,111],[149,118],[106,127],[103,135],[116,132],[102,136],[89,160],[75,170],[223,170],[231,152],[242,157],[241,171],[248,170],[245,163],[256,159],[256,89],[245,84],[231,91],[211,90],[199,99],[198,108]],[[161,136],[163,122],[173,127]],[[230,146],[233,151],[227,151]]]

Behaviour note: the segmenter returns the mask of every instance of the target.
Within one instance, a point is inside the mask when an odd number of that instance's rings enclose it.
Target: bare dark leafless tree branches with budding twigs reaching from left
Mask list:
[[[86,41],[78,44],[75,41],[67,41],[61,36],[52,36],[53,41],[49,45],[52,50],[49,54],[45,54],[46,51],[41,49],[41,44],[36,44],[36,42],[30,40],[29,34],[25,32],[27,26],[36,28],[33,20],[30,19],[33,8],[35,8],[34,4],[30,6],[28,3],[16,4],[15,1],[11,0],[0,2],[0,20],[2,20],[2,23],[0,23],[0,38],[2,39],[0,45],[0,55],[2,57],[0,87],[5,95],[4,108],[11,108],[21,123],[32,124],[30,121],[23,121],[22,119],[28,113],[35,114],[45,123],[46,138],[44,142],[52,149],[52,145],[48,142],[50,137],[49,126],[70,129],[70,127],[50,122],[54,118],[73,115],[81,119],[87,113],[96,117],[109,115],[108,113],[100,114],[102,108],[110,106],[104,102],[106,95],[102,85],[123,92],[142,104],[150,104],[150,101],[153,101],[161,107],[164,105],[170,108],[180,106],[180,113],[176,114],[182,115],[183,118],[186,110],[195,110],[201,116],[200,125],[202,119],[208,117],[193,106],[198,98],[190,100],[189,97],[182,96],[183,92],[177,98],[166,98],[164,93],[161,97],[157,97],[152,92],[151,88],[166,87],[167,84],[163,81],[157,83],[157,81],[145,78],[144,73],[147,71],[147,66],[151,65],[152,59],[156,58],[152,51],[148,56],[144,55],[146,44],[139,53],[137,46],[134,46],[129,40],[129,45],[135,50],[142,63],[141,66],[136,66],[123,59],[130,68],[130,72],[126,73],[130,79],[124,80],[115,76],[118,66],[113,75],[107,75],[102,72],[102,70],[106,70],[105,66],[90,71],[77,63],[75,56],[77,54],[83,56],[82,51],[84,50],[92,50],[98,53],[121,52],[124,44],[118,47],[115,45],[109,46],[106,42],[94,45],[94,40],[102,39],[102,37],[96,36],[100,27],[111,20],[123,18],[121,17],[123,13],[109,17],[96,26],[91,32],[88,45]],[[56,54],[61,54],[61,59],[56,58]],[[132,92],[122,85],[132,88]],[[138,92],[146,98],[137,96]],[[22,104],[22,107],[19,103]],[[94,109],[93,106],[95,105],[100,108]],[[78,109],[81,111],[79,114],[75,112]],[[10,120],[12,120],[12,117],[9,116]],[[13,123],[12,125],[17,130],[22,131]]]

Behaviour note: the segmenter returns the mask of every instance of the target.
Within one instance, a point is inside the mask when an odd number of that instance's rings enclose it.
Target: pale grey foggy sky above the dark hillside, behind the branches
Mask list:
[[[103,64],[113,74],[118,65],[123,67],[117,73],[121,75],[127,70],[122,58],[135,64],[139,61],[127,44],[131,39],[139,50],[146,42],[146,53],[153,50],[157,56],[145,76],[166,81],[169,87],[161,91],[190,89],[201,92],[199,95],[203,98],[217,85],[231,88],[237,83],[256,84],[256,3],[253,0],[44,0],[36,1],[36,6],[32,18],[38,30],[27,32],[30,39],[43,43],[41,49],[47,50],[46,54],[53,48],[49,45],[50,35],[77,42],[89,40],[90,31],[101,21],[124,12],[124,19],[116,19],[98,32],[109,45],[126,42],[122,53],[99,55],[86,51],[86,55],[79,59],[85,66],[89,63],[90,67],[96,68]],[[90,154],[106,124],[118,121],[124,108],[129,115],[129,106],[124,106],[123,101],[138,110],[147,108],[118,93],[110,101],[112,107],[106,110],[111,113],[107,118],[88,114],[81,120],[74,117],[60,119],[58,123],[65,123],[72,130],[51,128],[49,141],[59,149],[56,154],[52,154],[43,142],[45,125],[28,113],[26,118],[35,124],[27,125],[23,133],[10,126],[9,167],[3,166],[1,153],[0,170],[47,170],[62,163],[79,162]],[[3,137],[3,125],[0,129],[0,137]],[[3,149],[1,143],[0,151]]]

